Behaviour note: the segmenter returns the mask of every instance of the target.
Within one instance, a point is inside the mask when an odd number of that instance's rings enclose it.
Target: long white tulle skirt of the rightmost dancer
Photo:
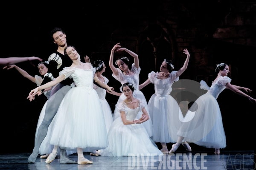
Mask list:
[[[186,113],[177,134],[185,137],[184,141],[200,146],[216,149],[226,147],[221,111],[215,97],[208,91],[195,102],[198,104],[198,110]]]

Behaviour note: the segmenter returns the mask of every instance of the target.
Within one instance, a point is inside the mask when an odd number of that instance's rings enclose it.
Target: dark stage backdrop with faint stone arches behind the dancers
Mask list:
[[[256,45],[252,42],[255,34],[251,33],[251,29],[245,30],[245,33],[237,38],[239,43],[235,43],[237,39],[232,39],[232,34],[236,32],[229,32],[232,41],[230,37],[213,36],[218,28],[224,27],[223,24],[221,26],[221,22],[225,20],[231,8],[237,9],[238,12],[245,10],[237,7],[240,3],[241,1],[220,2],[219,0],[204,3],[196,1],[177,3],[172,0],[152,3],[136,0],[91,1],[88,4],[60,1],[51,4],[12,3],[1,10],[0,57],[36,56],[47,60],[49,55],[57,50],[57,45],[52,42],[49,32],[55,27],[60,27],[66,31],[67,44],[77,48],[83,62],[85,55],[91,60],[102,59],[105,62],[107,69],[104,76],[110,80],[108,85],[119,92],[121,84],[113,79],[108,67],[111,48],[117,42],[121,42],[121,45],[139,54],[142,70],[140,83],[143,83],[149,72],[159,71],[160,63],[163,61],[157,61],[155,70],[154,64],[152,65],[154,50],[148,47],[151,42],[146,41],[147,36],[151,37],[151,40],[156,40],[154,37],[158,36],[159,30],[154,26],[160,26],[159,23],[162,22],[164,26],[161,25],[161,28],[171,31],[168,35],[168,31],[166,33],[171,45],[157,42],[163,47],[162,53],[161,48],[158,48],[160,58],[173,59],[177,71],[186,59],[182,50],[187,48],[191,54],[189,67],[180,79],[192,79],[197,82],[204,79],[210,85],[216,77],[213,74],[216,64],[225,62],[233,68],[233,74],[230,75],[233,80],[231,83],[250,88],[252,90],[250,95],[256,98],[255,62],[252,62],[256,56]],[[250,5],[253,6],[253,3]],[[170,12],[169,9],[173,11]],[[256,10],[253,7],[251,9],[248,15],[252,21],[247,25],[253,29],[256,25]],[[149,26],[152,26],[153,31]],[[145,29],[148,29],[148,34],[144,34]],[[236,26],[235,29],[239,30],[240,27]],[[137,41],[133,41],[134,39]],[[33,61],[19,63],[17,66],[35,76],[40,75],[37,64],[37,61]],[[22,77],[15,69],[8,71],[0,69],[0,75],[2,91],[0,153],[32,152],[38,117],[47,98],[44,95],[36,96],[34,101],[29,102],[26,97],[37,86]],[[207,77],[208,75],[211,76]],[[142,92],[149,101],[154,94],[154,85],[148,85]],[[118,97],[107,94],[106,99],[113,111]],[[227,147],[224,150],[253,150],[256,105],[230,90],[224,90],[217,101],[227,137]],[[168,147],[171,149],[171,144]],[[192,144],[192,149],[212,150],[195,144]]]

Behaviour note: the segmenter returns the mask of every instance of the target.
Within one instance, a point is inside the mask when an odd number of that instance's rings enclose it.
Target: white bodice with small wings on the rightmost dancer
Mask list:
[[[227,76],[224,77],[218,77],[218,79],[215,82],[212,82],[212,86],[209,88],[209,86],[207,85],[206,82],[204,82],[203,80],[201,80],[200,84],[200,88],[204,89],[204,90],[208,90],[207,93],[212,94],[212,96],[215,97],[215,99],[218,98],[218,95],[226,88],[226,84],[228,82],[231,82],[231,79]]]

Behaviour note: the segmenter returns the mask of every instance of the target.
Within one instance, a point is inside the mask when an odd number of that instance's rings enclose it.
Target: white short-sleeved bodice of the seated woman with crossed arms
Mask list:
[[[146,105],[146,103],[140,100],[138,107],[135,109],[128,108],[125,102],[119,103],[119,105],[117,105],[116,108],[119,112],[124,111],[126,119],[132,121],[136,119],[136,116],[139,113],[139,111],[142,111],[142,109],[145,108]]]

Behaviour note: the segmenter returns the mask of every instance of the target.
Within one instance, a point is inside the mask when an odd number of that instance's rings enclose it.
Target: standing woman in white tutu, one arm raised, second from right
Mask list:
[[[174,66],[172,60],[164,59],[160,73],[152,71],[148,74],[148,79],[139,86],[144,88],[149,83],[154,84],[155,94],[153,94],[148,102],[149,114],[153,123],[153,138],[154,142],[160,142],[162,145],[161,151],[168,153],[166,143],[175,143],[177,141],[177,130],[181,122],[169,123],[168,119],[179,116],[183,118],[180,107],[176,100],[169,94],[172,91],[172,84],[179,80],[179,76],[186,70],[189,63],[189,51],[183,50],[187,55],[186,61],[179,71],[172,71]],[[180,113],[180,115],[179,115]],[[171,128],[168,126],[172,126]],[[187,151],[191,151],[191,147],[186,142],[183,146]]]

